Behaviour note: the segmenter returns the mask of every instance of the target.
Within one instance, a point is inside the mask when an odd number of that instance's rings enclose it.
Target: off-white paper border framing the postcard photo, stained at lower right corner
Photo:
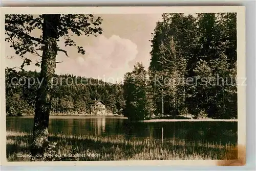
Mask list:
[[[221,160],[136,160],[136,161],[53,161],[53,162],[7,162],[6,159],[6,114],[5,114],[5,14],[53,14],[53,13],[93,13],[93,14],[148,14],[148,13],[237,13],[237,72],[238,78],[245,74],[245,7],[243,6],[207,6],[207,7],[2,7],[1,8],[1,164],[28,166],[72,166],[72,165],[105,165],[105,166],[212,166]],[[241,80],[241,79],[240,79]],[[238,145],[246,146],[246,86],[238,83]],[[239,158],[245,158],[245,152],[238,151]]]

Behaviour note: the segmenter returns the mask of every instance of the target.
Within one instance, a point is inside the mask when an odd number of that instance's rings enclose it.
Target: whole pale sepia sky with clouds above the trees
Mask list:
[[[161,14],[99,14],[103,21],[100,36],[73,36],[77,45],[83,46],[85,55],[77,53],[75,47],[65,47],[59,42],[60,48],[68,51],[69,57],[58,52],[56,74],[73,74],[87,78],[97,78],[107,82],[119,82],[126,72],[133,70],[136,62],[142,62],[145,68],[150,64],[151,33]],[[39,36],[41,32],[35,33]],[[14,56],[8,59],[7,56]],[[39,58],[26,55],[33,64],[25,66],[25,70],[40,71],[34,63]],[[15,55],[15,51],[6,45],[7,67],[20,66],[23,60]]]

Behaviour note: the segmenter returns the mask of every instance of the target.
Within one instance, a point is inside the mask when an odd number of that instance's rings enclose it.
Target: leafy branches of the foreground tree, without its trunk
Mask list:
[[[39,37],[33,36],[36,32],[44,29],[44,19],[46,15],[5,15],[5,34],[6,41],[10,43],[10,47],[15,50],[15,54],[24,59],[21,69],[25,65],[30,65],[32,60],[26,58],[27,53],[31,53],[38,58],[35,63],[40,66],[42,50],[44,46],[43,35]],[[65,40],[65,46],[74,46],[77,52],[85,54],[82,46],[76,44],[72,39],[71,33],[81,36],[90,36],[102,34],[102,28],[99,27],[102,18],[94,17],[93,14],[61,14],[58,19],[57,41]],[[58,48],[59,52],[63,52],[68,56],[66,50]]]

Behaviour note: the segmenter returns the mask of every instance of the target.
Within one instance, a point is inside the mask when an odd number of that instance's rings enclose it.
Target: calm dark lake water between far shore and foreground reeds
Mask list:
[[[33,117],[7,117],[7,131],[32,132]],[[122,136],[124,138],[162,139],[179,143],[228,145],[237,144],[238,124],[225,121],[179,121],[159,123],[129,123],[122,117],[53,116],[49,132]]]

